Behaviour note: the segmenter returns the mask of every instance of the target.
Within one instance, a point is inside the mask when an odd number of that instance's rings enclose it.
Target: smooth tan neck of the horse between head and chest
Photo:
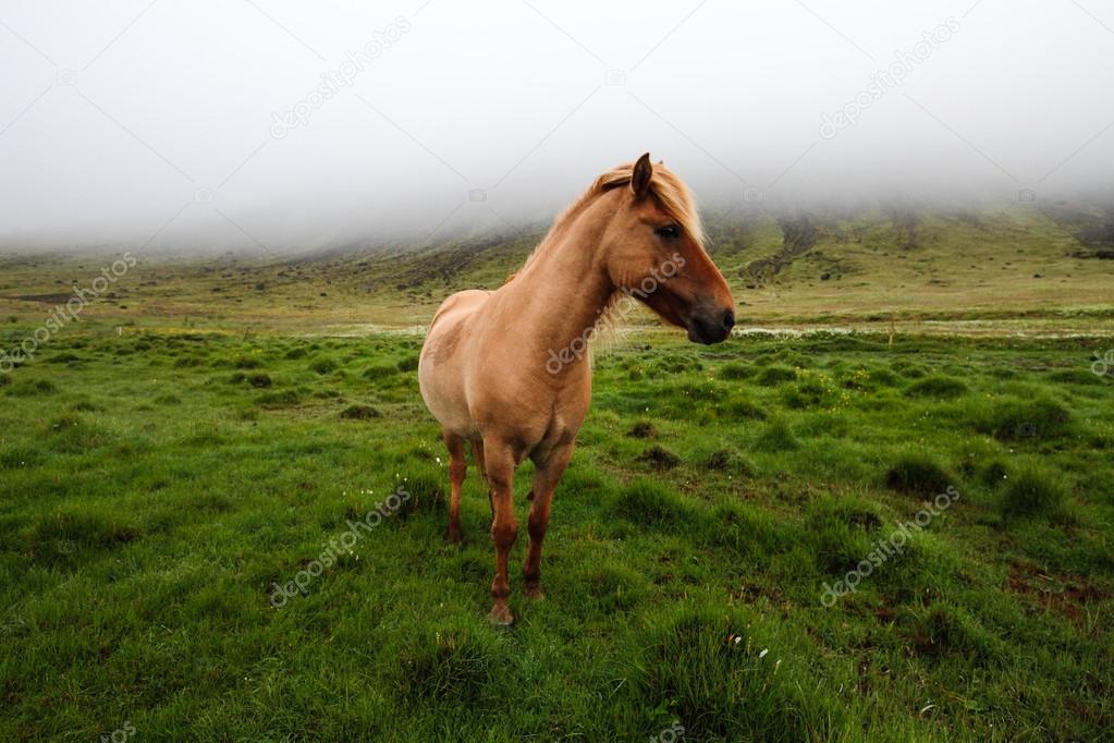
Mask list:
[[[507,285],[521,309],[537,348],[545,358],[553,351],[580,348],[573,363],[586,362],[583,343],[615,293],[599,242],[606,224],[579,215],[538,248],[528,265]],[[578,340],[579,339],[579,340]]]

